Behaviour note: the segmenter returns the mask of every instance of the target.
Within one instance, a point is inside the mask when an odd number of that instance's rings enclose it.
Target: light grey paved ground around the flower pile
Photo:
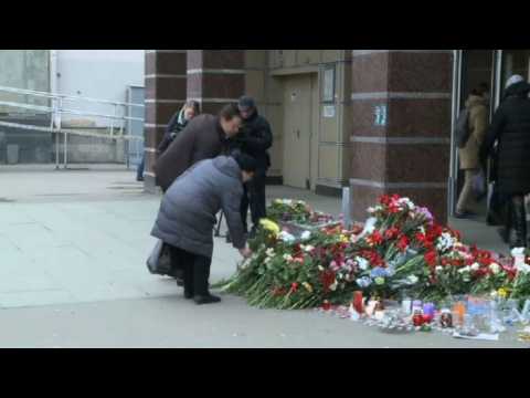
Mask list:
[[[339,199],[286,187],[269,187],[268,196],[340,209]],[[252,308],[227,295],[219,305],[192,305],[174,281],[145,265],[159,203],[119,166],[2,166],[0,347],[524,347],[508,336],[384,335],[310,311]],[[479,223],[459,228],[498,244]],[[237,261],[216,239],[211,281],[230,276]]]

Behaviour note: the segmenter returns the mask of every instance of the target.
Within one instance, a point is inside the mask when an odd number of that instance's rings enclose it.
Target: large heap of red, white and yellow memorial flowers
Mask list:
[[[363,226],[347,230],[303,201],[275,200],[250,242],[252,258],[216,287],[278,310],[348,304],[356,291],[432,302],[462,294],[530,296],[528,251],[501,258],[467,247],[428,209],[396,195],[382,196],[368,212]]]

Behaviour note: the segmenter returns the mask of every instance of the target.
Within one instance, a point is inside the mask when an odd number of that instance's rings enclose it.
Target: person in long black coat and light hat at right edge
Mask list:
[[[502,103],[480,148],[485,161],[498,142],[497,186],[508,198],[506,227],[499,232],[511,248],[527,247],[527,212],[524,196],[530,193],[530,84],[519,75],[511,76]],[[511,230],[516,241],[510,242]]]

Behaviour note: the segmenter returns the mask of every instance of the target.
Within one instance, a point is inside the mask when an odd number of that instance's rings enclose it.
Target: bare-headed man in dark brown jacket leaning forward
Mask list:
[[[166,192],[195,163],[220,155],[226,140],[239,133],[241,123],[235,105],[226,105],[219,116],[193,118],[155,164],[157,182],[162,191]]]

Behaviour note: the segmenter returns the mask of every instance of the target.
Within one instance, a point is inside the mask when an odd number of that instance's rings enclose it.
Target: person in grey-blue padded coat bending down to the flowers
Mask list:
[[[197,304],[221,298],[208,289],[213,253],[215,214],[222,209],[234,248],[251,255],[240,214],[243,184],[256,163],[247,155],[219,156],[198,163],[180,176],[163,196],[151,234],[170,247],[171,265],[184,270],[184,296]]]

